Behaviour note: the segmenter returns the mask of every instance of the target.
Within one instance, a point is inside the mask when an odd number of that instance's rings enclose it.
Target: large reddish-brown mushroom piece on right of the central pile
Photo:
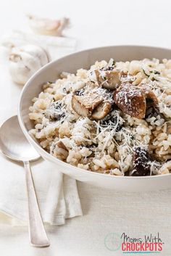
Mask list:
[[[131,83],[122,83],[114,91],[114,102],[125,114],[142,119],[146,114],[146,98],[141,88],[135,88]]]

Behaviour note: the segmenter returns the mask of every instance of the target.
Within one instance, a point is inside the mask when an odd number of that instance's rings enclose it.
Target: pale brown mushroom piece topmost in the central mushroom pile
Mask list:
[[[95,70],[96,80],[99,86],[114,90],[120,85],[122,71],[120,70]]]

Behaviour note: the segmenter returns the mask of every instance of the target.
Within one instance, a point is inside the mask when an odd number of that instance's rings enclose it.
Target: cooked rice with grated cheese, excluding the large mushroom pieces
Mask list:
[[[159,102],[159,115],[138,119],[119,108],[110,115],[115,122],[101,123],[72,110],[72,94],[88,81],[96,83],[94,70],[114,65],[128,73],[133,86],[148,84]],[[128,78],[127,78],[128,79]],[[171,172],[171,60],[143,59],[131,62],[96,62],[90,70],[62,73],[54,83],[43,85],[33,99],[30,134],[43,149],[59,160],[78,168],[115,176],[133,175],[134,148],[149,152],[150,173]],[[105,119],[105,117],[104,117]],[[119,126],[120,128],[118,128]]]

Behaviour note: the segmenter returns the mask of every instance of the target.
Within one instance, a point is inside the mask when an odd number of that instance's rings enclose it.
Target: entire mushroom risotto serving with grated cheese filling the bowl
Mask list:
[[[30,134],[78,168],[114,176],[171,172],[171,60],[96,62],[33,99]]]

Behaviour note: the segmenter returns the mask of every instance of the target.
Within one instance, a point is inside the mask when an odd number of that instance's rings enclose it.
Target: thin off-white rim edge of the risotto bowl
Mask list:
[[[25,86],[22,88],[22,91],[20,93],[20,99],[19,99],[19,103],[18,103],[18,107],[17,107],[17,117],[20,123],[20,127],[22,128],[22,132],[25,134],[26,138],[29,139],[29,141],[31,141],[31,143],[33,144],[33,146],[36,148],[38,147],[38,149],[40,150],[40,152],[42,152],[42,154],[46,154],[47,158],[51,158],[52,162],[57,162],[59,163],[59,165],[64,165],[64,167],[66,168],[74,168],[75,170],[78,171],[78,173],[89,173],[89,174],[93,174],[94,176],[101,176],[101,177],[105,177],[105,178],[119,178],[119,179],[133,179],[133,180],[144,180],[144,179],[158,179],[158,178],[164,178],[167,176],[170,176],[171,173],[167,173],[167,174],[163,174],[163,175],[156,175],[156,176],[112,176],[106,173],[98,173],[98,172],[93,172],[90,170],[84,170],[83,168],[78,168],[77,166],[74,165],[70,165],[70,163],[64,162],[62,160],[59,160],[57,157],[52,156],[51,154],[49,154],[49,152],[46,152],[45,149],[43,149],[41,147],[40,144],[36,143],[36,141],[33,139],[32,136],[30,136],[30,134],[28,133],[27,128],[25,127],[25,123],[23,121],[22,118],[22,98],[25,95],[25,90],[26,88],[29,87],[30,83],[32,83],[32,81],[36,78],[37,75],[43,73],[43,70],[46,70],[46,67],[49,67],[51,65],[54,65],[55,62],[60,61],[61,59],[67,59],[67,57],[72,57],[75,56],[76,54],[81,54],[81,53],[86,53],[89,51],[94,51],[94,50],[101,50],[101,49],[106,49],[106,48],[119,48],[119,47],[128,47],[128,48],[151,48],[151,49],[158,49],[158,50],[168,50],[171,51],[170,48],[166,48],[166,47],[158,47],[158,46],[147,46],[147,45],[132,45],[132,44],[121,44],[121,45],[109,45],[109,46],[101,46],[101,47],[93,47],[90,49],[84,49],[84,50],[80,50],[80,51],[75,51],[72,54],[67,54],[64,57],[60,57],[59,59],[54,59],[53,61],[47,63],[46,65],[44,65],[43,67],[41,67],[39,70],[36,71],[36,73],[34,73],[29,79],[28,81],[25,83]],[[80,67],[81,68],[81,67]],[[164,176],[164,177],[163,177]]]

